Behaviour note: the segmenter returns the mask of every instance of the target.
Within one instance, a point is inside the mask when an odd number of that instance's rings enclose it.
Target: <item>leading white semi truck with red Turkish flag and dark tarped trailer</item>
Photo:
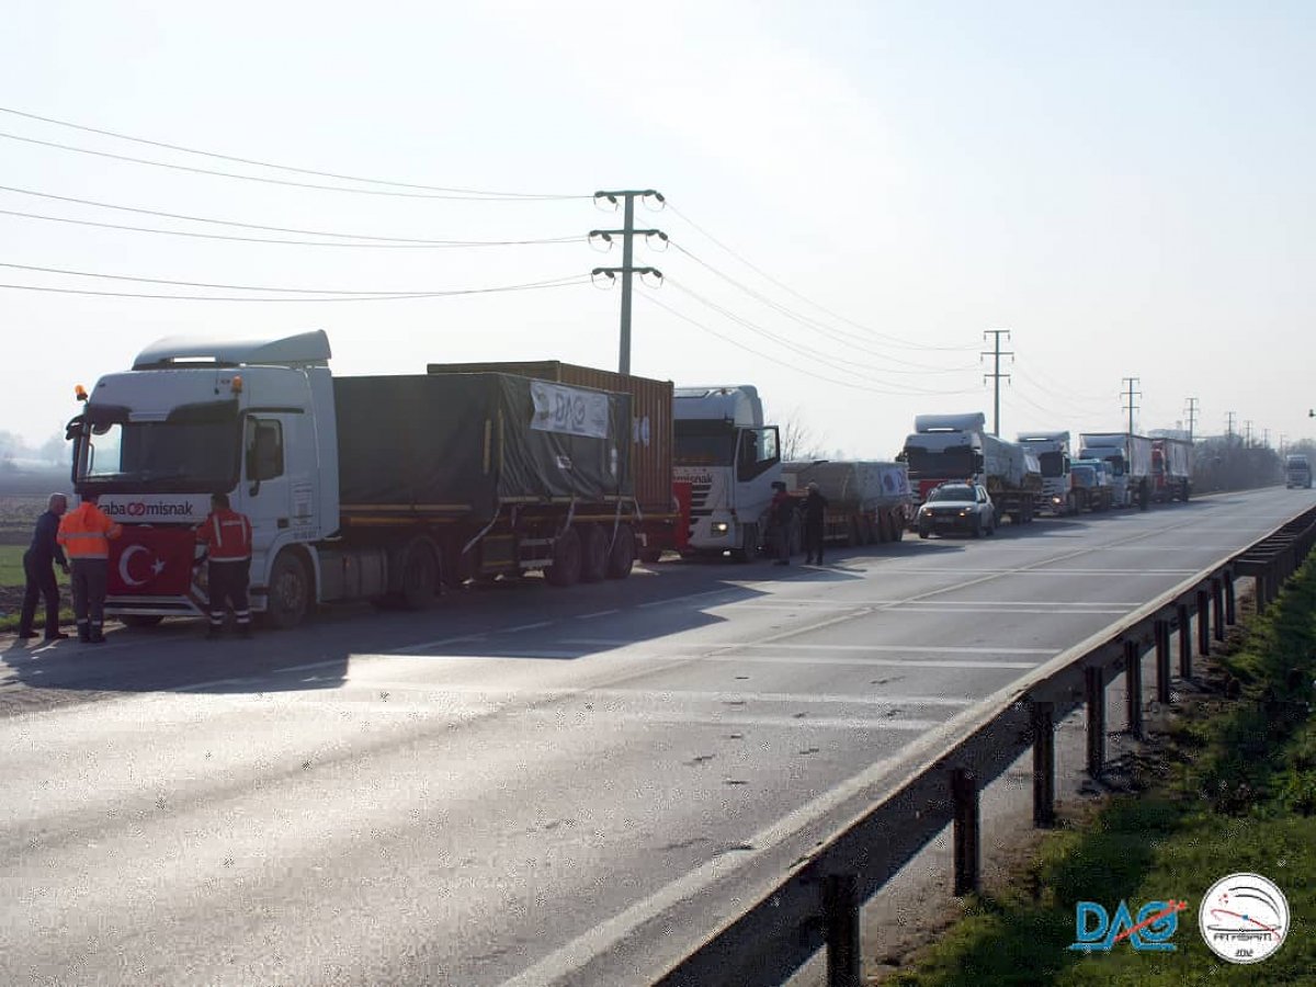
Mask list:
[[[621,579],[642,538],[678,524],[640,511],[630,393],[496,372],[334,378],[329,357],[318,330],[168,338],[97,382],[68,437],[75,490],[124,524],[107,612],[204,611],[192,528],[216,491],[251,519],[253,609],[279,628],[317,601],[418,609],[443,584],[532,570]],[[659,412],[649,441],[669,429]]]

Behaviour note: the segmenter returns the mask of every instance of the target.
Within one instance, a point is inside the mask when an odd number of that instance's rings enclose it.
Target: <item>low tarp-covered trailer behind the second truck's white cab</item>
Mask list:
[[[846,546],[900,541],[913,524],[913,492],[904,463],[801,461],[782,465],[786,492],[804,497],[811,483],[828,499],[822,540]]]

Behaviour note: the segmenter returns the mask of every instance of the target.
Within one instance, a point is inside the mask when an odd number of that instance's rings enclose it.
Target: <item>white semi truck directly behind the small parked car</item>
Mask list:
[[[1042,496],[1037,457],[1024,446],[987,432],[987,416],[919,415],[905,438],[900,459],[919,504],[942,483],[976,483],[987,488],[998,515],[1015,524],[1033,520]]]

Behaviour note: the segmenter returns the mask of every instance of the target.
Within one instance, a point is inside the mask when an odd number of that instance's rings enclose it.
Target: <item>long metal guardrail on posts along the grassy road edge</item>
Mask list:
[[[1087,771],[1105,763],[1108,675],[1126,679],[1126,722],[1142,734],[1142,665],[1155,655],[1155,699],[1169,704],[1171,633],[1179,632],[1179,675],[1192,675],[1212,637],[1236,621],[1234,580],[1252,578],[1263,611],[1316,545],[1316,508],[1280,525],[1229,561],[1183,580],[1112,628],[1055,655],[980,704],[941,753],[924,757],[905,780],[800,861],[740,917],[669,970],[658,987],[780,984],[820,949],[829,987],[859,987],[859,908],[946,825],[953,825],[954,892],[979,887],[979,805],[983,786],[1033,750],[1033,822],[1055,819],[1054,729],[1087,707]],[[1196,642],[1192,626],[1196,626]]]

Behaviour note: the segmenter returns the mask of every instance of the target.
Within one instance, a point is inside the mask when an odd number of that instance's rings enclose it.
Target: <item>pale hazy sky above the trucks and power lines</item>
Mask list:
[[[755,383],[828,453],[895,454],[913,416],[1001,432],[1316,434],[1316,7],[1309,3],[59,3],[12,5],[0,105],[468,201],[237,180],[0,137],[0,262],[87,274],[440,292],[619,265],[596,190],[657,188],[632,367]],[[408,191],[184,154],[0,113],[0,134],[262,179]],[[357,249],[104,229],[565,243]],[[336,242],[361,243],[341,237]],[[371,241],[376,243],[390,241]],[[769,275],[769,278],[765,278]],[[279,297],[0,267],[4,284]],[[296,297],[284,293],[282,297]],[[315,297],[315,296],[312,296]],[[322,297],[322,296],[321,296]],[[72,388],[174,333],[328,330],[338,374],[558,358],[615,368],[620,292],[196,301],[0,288],[0,429],[39,443]]]

